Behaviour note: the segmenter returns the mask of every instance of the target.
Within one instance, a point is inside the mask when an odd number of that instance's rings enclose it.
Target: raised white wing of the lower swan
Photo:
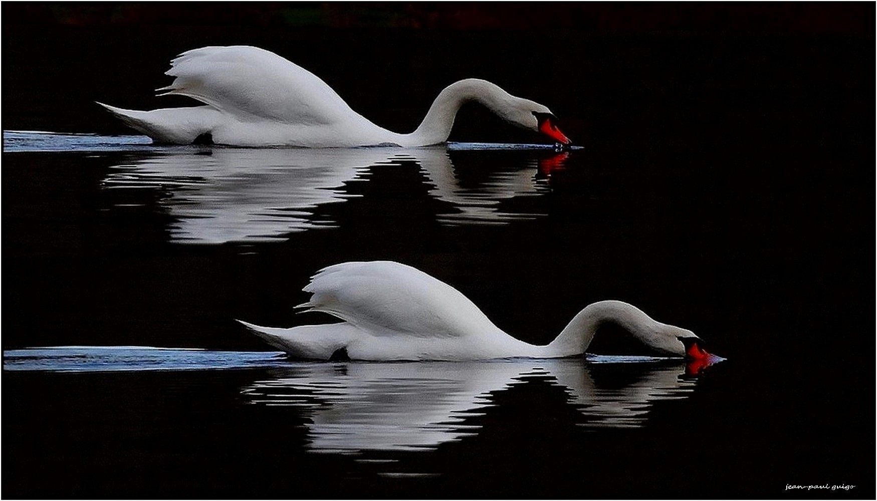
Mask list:
[[[459,290],[393,261],[324,268],[303,289],[324,311],[376,336],[462,337],[499,329]]]

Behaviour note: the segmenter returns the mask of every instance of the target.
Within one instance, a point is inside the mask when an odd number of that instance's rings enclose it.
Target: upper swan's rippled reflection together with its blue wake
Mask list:
[[[552,173],[570,154],[550,145],[236,148],[160,146],[146,136],[4,132],[4,153],[16,152],[125,153],[125,163],[110,167],[103,189],[159,191],[159,203],[177,221],[169,228],[171,240],[207,244],[287,240],[289,233],[334,227],[335,221],[317,215],[318,206],[357,197],[347,193],[346,183],[372,169],[411,161],[429,197],[449,207],[435,215],[440,224],[539,218],[545,214],[507,202],[548,192]],[[136,206],[137,197],[114,205]]]

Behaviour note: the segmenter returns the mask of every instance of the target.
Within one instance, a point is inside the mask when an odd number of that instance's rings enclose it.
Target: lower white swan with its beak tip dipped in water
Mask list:
[[[603,322],[615,322],[645,345],[697,361],[721,360],[688,329],[652,320],[622,301],[589,304],[545,346],[517,340],[495,326],[447,283],[395,261],[344,262],[323,268],[304,287],[297,308],[343,322],[276,328],[238,320],[268,345],[311,360],[470,361],[584,354]]]

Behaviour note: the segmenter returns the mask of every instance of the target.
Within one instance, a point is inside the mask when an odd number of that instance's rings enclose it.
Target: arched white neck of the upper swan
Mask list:
[[[410,134],[399,134],[402,146],[429,146],[445,142],[451,134],[453,120],[460,106],[470,101],[481,103],[501,118],[509,120],[509,111],[522,99],[486,80],[467,78],[454,82],[439,92],[417,130]]]

